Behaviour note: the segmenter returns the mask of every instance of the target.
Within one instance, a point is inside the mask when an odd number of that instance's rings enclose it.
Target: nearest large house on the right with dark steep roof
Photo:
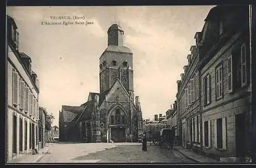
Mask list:
[[[211,9],[202,32],[203,152],[244,157],[251,137],[249,7]]]

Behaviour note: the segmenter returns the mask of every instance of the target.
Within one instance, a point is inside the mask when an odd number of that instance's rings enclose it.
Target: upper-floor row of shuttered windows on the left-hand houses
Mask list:
[[[39,106],[37,99],[18,72],[12,72],[12,103],[19,107],[20,111],[39,119]]]

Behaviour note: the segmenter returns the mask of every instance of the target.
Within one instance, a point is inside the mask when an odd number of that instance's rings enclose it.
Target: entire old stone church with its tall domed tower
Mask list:
[[[124,32],[113,24],[108,47],[99,58],[100,92],[80,106],[62,105],[59,140],[137,142],[143,131],[139,97],[134,97],[133,53],[123,46]]]

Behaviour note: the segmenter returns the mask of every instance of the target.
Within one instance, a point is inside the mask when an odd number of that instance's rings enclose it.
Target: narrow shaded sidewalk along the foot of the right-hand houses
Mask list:
[[[219,163],[220,161],[209,158],[207,156],[200,155],[192,150],[184,149],[181,146],[175,146],[174,150],[179,151],[182,155],[186,156],[187,158],[201,163]]]

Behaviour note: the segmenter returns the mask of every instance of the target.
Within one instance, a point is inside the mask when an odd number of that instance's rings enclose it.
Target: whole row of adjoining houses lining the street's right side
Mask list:
[[[245,157],[252,129],[249,7],[212,8],[195,39],[177,81],[182,146],[216,159]]]

